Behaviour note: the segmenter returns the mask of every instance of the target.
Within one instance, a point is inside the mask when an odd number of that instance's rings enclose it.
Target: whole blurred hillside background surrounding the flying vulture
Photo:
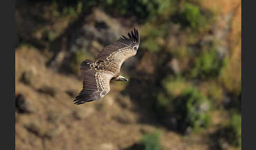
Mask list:
[[[16,149],[241,149],[241,1],[16,1]],[[74,105],[80,63],[140,33],[130,81]]]

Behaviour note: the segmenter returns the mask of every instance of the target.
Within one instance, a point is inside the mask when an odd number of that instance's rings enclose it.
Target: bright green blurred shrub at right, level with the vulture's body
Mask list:
[[[192,78],[206,79],[217,77],[223,67],[223,60],[217,57],[215,49],[203,50],[202,55],[195,59],[195,66],[191,71]]]

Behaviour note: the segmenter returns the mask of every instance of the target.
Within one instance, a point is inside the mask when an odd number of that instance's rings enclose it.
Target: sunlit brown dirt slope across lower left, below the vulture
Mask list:
[[[47,69],[46,55],[30,46],[15,52],[15,93],[22,93],[33,110],[16,113],[16,149],[125,149],[156,127],[165,149],[208,149],[202,136],[183,137],[158,125],[152,114],[120,94],[125,83],[112,83],[100,101],[74,105],[82,82]],[[31,84],[20,80],[23,72],[32,72]]]

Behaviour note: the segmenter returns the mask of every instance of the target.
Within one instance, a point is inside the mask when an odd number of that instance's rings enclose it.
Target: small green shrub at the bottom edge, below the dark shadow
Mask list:
[[[160,132],[153,132],[151,134],[143,135],[141,138],[141,144],[143,145],[143,150],[160,150]]]

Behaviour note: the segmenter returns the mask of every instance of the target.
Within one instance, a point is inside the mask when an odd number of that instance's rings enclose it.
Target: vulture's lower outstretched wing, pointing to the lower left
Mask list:
[[[83,89],[75,97],[74,104],[83,104],[99,100],[110,91],[110,80],[113,75],[107,71],[85,70]]]

